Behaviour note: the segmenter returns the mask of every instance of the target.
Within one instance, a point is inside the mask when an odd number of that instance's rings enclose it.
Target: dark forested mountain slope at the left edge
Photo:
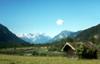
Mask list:
[[[30,45],[28,42],[17,37],[7,27],[0,24],[0,48]]]

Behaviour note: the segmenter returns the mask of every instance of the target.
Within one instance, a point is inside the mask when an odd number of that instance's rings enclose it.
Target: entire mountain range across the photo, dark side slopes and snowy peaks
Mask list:
[[[53,38],[45,34],[32,33],[16,36],[7,27],[0,24],[0,48],[28,46],[32,43],[44,44],[67,37],[74,38],[77,41],[92,41],[100,44],[100,24],[77,32],[64,30]]]

